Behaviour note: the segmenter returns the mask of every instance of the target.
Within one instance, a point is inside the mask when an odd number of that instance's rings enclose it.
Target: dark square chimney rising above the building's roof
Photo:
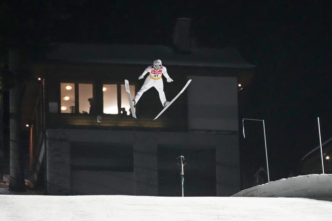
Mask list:
[[[179,18],[176,20],[173,44],[180,53],[190,53],[190,19]]]

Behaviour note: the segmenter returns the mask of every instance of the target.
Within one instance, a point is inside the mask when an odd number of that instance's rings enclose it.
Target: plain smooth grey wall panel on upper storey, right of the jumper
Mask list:
[[[238,131],[236,77],[188,76],[188,128]]]

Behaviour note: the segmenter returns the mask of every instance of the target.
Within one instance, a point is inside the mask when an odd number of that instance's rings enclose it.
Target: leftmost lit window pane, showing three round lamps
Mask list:
[[[71,90],[67,90],[71,87]],[[75,113],[75,84],[61,83],[61,113]]]

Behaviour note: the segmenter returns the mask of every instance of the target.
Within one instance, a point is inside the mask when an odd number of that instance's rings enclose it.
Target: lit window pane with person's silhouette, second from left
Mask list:
[[[81,114],[94,113],[92,84],[79,83],[79,112]]]

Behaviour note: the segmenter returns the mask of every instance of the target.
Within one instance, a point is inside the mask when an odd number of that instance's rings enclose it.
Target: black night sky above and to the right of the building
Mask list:
[[[175,20],[183,17],[198,46],[237,48],[257,67],[239,92],[239,126],[242,118],[265,119],[271,181],[297,175],[301,158],[319,145],[317,117],[322,141],[332,137],[331,1],[18,2],[1,3],[1,43],[36,54],[47,42],[171,46]],[[251,182],[265,167],[263,128],[246,122],[246,140],[242,127],[240,133],[241,166]]]

